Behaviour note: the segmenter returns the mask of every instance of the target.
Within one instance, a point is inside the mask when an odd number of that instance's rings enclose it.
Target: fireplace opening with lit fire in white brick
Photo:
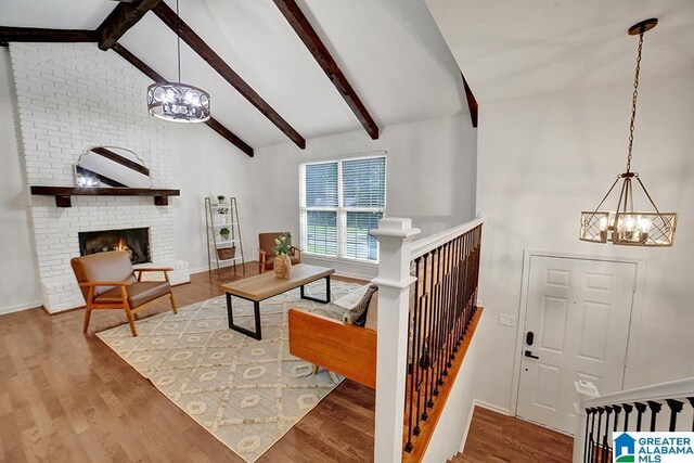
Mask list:
[[[105,253],[107,250],[127,250],[132,263],[151,262],[150,229],[104,230],[79,232],[79,254]]]

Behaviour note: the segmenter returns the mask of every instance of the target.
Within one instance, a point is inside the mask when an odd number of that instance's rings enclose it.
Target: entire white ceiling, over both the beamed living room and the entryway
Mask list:
[[[646,35],[644,77],[694,68],[694,0],[297,1],[382,130],[466,113],[460,69],[481,104],[626,82],[637,46],[626,30],[652,16],[660,24]],[[180,3],[181,17],[306,139],[362,130],[271,0]],[[0,0],[0,25],[94,29],[115,5]],[[153,13],[120,42],[177,78],[176,36]],[[214,116],[244,141],[288,140],[185,43],[182,62],[182,80],[208,90]]]

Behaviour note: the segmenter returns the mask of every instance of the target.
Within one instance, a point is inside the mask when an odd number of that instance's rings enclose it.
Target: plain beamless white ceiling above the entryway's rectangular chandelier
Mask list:
[[[693,0],[424,0],[480,103],[694,69]]]

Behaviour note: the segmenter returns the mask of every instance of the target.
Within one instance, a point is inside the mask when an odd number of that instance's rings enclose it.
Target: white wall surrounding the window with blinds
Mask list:
[[[253,175],[265,184],[252,197],[256,230],[298,237],[299,164],[377,151],[387,152],[387,216],[411,218],[422,236],[474,217],[476,132],[465,114],[389,126],[375,141],[360,130],[309,140],[304,151],[291,143],[256,150]],[[330,265],[344,274],[375,275],[375,267]]]

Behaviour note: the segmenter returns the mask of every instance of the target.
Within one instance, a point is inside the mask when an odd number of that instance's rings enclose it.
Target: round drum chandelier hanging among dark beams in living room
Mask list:
[[[152,83],[147,87],[147,113],[172,123],[204,123],[209,119],[209,93],[181,83],[181,36],[178,0],[176,0],[176,37],[178,82]]]

